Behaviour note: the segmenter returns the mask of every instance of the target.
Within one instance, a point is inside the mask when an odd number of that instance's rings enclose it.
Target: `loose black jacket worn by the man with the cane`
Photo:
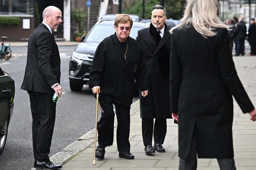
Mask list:
[[[127,38],[126,61],[116,33],[97,47],[89,74],[89,87],[100,86],[101,95],[114,102],[131,105],[135,81],[142,91],[148,90],[143,52],[138,42]]]

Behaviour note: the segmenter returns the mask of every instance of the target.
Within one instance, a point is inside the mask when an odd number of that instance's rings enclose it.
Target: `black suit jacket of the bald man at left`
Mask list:
[[[21,89],[53,95],[51,86],[60,83],[60,64],[54,37],[46,25],[41,23],[29,37],[27,65]]]

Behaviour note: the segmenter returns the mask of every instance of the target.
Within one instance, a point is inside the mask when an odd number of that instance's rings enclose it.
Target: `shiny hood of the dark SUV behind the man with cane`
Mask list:
[[[98,45],[99,43],[96,42],[82,42],[75,48],[75,52],[94,55]]]

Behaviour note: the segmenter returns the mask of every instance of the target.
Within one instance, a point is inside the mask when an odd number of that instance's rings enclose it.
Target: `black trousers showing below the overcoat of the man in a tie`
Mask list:
[[[154,127],[154,131],[153,131]],[[166,119],[142,118],[142,138],[144,146],[152,145],[154,132],[154,143],[163,144],[165,140],[167,125]]]

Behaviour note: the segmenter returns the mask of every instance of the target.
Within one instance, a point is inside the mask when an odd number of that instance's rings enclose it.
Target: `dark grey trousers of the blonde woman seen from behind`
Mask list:
[[[220,170],[236,170],[234,158],[217,159]],[[189,156],[187,159],[179,159],[179,170],[196,170],[197,169],[197,150],[195,137],[193,135]]]

